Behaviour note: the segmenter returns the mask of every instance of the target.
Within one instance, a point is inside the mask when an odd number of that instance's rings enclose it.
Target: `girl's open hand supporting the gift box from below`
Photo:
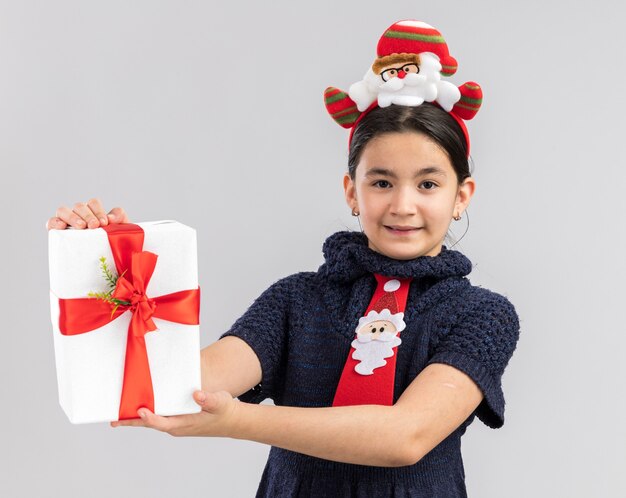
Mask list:
[[[170,436],[232,436],[240,406],[238,400],[228,391],[195,391],[193,399],[202,407],[200,413],[162,417],[140,408],[137,413],[141,418],[111,422],[111,427],[149,427]]]

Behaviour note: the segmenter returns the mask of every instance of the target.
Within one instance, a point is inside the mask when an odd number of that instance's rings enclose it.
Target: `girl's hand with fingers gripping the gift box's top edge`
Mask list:
[[[68,226],[73,228],[99,228],[109,223],[128,222],[128,216],[122,208],[113,208],[108,213],[105,213],[99,199],[90,199],[86,204],[77,202],[74,204],[73,209],[61,206],[57,209],[56,215],[46,223],[46,229],[63,230]]]

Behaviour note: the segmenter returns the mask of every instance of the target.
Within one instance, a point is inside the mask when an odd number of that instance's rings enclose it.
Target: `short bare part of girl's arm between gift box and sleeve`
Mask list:
[[[242,339],[226,336],[202,349],[202,390],[228,391],[233,397],[261,382],[261,363]]]

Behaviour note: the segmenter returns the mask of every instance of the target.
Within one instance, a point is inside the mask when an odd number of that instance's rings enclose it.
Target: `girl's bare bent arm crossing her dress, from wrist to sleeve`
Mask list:
[[[482,400],[473,380],[432,364],[394,406],[297,408],[238,403],[229,435],[360,465],[399,467],[419,461]]]

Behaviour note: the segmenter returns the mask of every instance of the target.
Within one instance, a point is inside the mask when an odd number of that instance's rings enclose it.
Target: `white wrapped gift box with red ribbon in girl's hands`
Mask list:
[[[199,412],[196,231],[156,221],[50,230],[48,242],[59,402],[70,421],[137,418],[141,406]],[[110,289],[101,257],[130,304],[88,297]]]

